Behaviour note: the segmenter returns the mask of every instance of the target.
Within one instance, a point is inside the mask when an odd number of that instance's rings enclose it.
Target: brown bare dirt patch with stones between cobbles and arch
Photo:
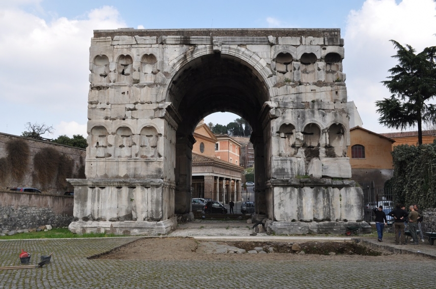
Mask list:
[[[279,242],[216,242],[238,248],[253,250],[254,247],[275,248],[267,254],[206,253],[202,241],[193,238],[144,238],[98,256],[103,259],[140,259],[140,260],[240,260],[240,261],[274,261],[274,260],[366,260],[366,261],[404,261],[405,256],[387,251],[376,251],[362,245],[343,242],[301,243],[299,246],[305,254],[296,254],[289,250],[290,243]],[[335,255],[329,255],[335,252]],[[370,255],[359,255],[367,253]],[[372,254],[372,255],[371,255]],[[378,255],[378,256],[377,256]],[[414,261],[426,261],[428,258],[414,256]]]

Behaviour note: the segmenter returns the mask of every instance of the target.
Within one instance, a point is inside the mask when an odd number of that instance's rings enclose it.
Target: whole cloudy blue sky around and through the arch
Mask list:
[[[0,132],[20,135],[27,122],[53,135],[86,135],[89,46],[93,30],[133,28],[341,28],[348,100],[364,128],[378,124],[380,81],[396,62],[390,39],[417,51],[436,45],[432,0],[306,1],[0,1]],[[227,124],[236,115],[210,115]]]

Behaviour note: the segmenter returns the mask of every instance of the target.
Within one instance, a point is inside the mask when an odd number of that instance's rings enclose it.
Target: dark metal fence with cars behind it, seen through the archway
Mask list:
[[[255,212],[254,190],[254,187],[247,187],[246,189],[241,188],[240,190],[236,191],[222,188],[215,192],[207,192],[204,191],[201,185],[199,185],[193,186],[192,197],[218,201],[227,210],[227,214],[243,215]],[[230,210],[230,201],[233,201],[233,210]],[[193,204],[193,211],[200,211],[200,209],[198,206],[196,209],[194,209]],[[210,214],[221,214],[221,210],[217,210],[217,212],[210,212]]]

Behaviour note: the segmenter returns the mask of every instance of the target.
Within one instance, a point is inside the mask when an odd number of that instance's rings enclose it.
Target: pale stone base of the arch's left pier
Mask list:
[[[174,184],[162,179],[68,179],[74,185],[72,233],[161,235],[177,227]]]

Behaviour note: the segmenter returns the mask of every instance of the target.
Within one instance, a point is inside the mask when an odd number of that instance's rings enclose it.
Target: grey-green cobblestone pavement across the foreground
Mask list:
[[[21,248],[52,262],[0,271],[0,288],[411,288],[433,287],[436,261],[146,261],[87,259],[137,238],[0,241],[0,266],[18,265]],[[404,268],[420,278],[411,278]],[[400,270],[398,270],[400,269]],[[417,274],[413,274],[417,276]],[[411,279],[414,281],[411,282]]]

